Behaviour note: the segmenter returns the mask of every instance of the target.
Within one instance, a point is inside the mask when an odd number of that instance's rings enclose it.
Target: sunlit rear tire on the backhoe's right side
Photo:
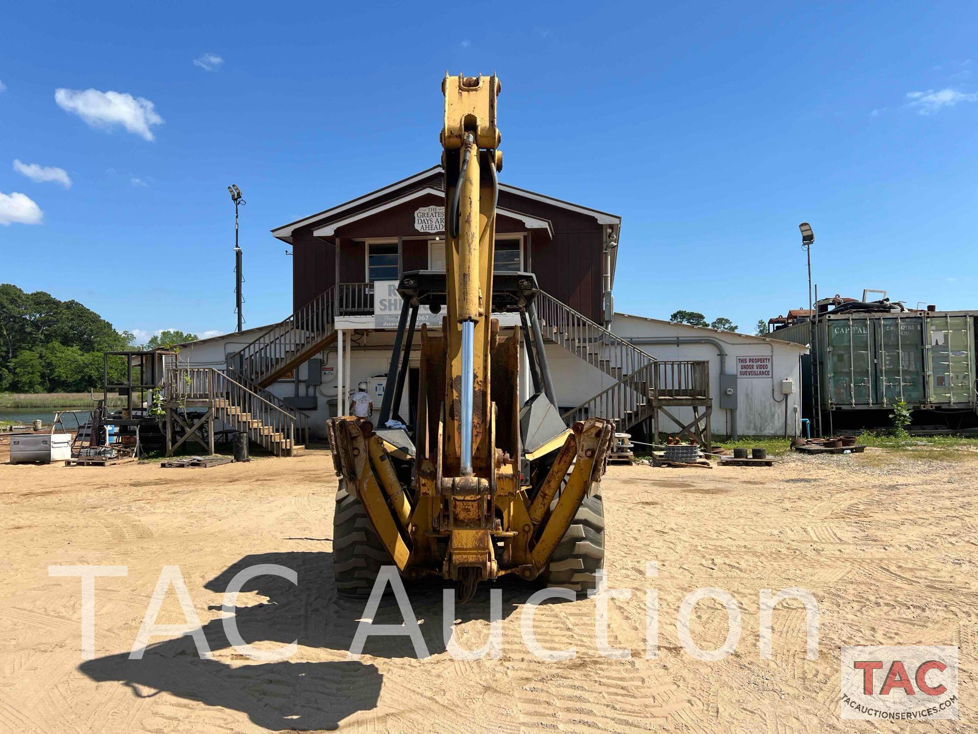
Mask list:
[[[585,497],[574,521],[557,543],[544,578],[584,596],[598,588],[598,572],[604,568],[604,505],[601,495]]]

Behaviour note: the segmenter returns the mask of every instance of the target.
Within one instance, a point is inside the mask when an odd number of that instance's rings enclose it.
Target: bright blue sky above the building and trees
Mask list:
[[[820,295],[978,307],[974,3],[472,7],[8,6],[0,281],[231,331],[236,183],[246,326],[278,321],[269,229],[437,162],[445,69],[495,70],[503,180],[623,216],[620,310],[753,331],[807,301],[803,220]]]

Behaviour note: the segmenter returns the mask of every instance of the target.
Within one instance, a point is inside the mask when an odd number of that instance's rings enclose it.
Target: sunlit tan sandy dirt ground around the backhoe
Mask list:
[[[446,651],[441,589],[411,591],[430,657],[407,638],[373,637],[347,651],[363,602],[333,588],[329,455],[262,459],[205,470],[126,465],[106,469],[0,466],[0,730],[19,732],[870,731],[839,718],[840,646],[956,645],[960,720],[893,730],[959,731],[974,725],[978,463],[890,461],[864,455],[789,456],[773,469],[612,467],[603,482],[610,585],[608,642],[628,659],[600,656],[594,600],[538,608],[546,648],[576,656],[549,663],[520,636],[537,587],[502,585],[503,655],[461,662]],[[658,577],[645,576],[646,562]],[[263,663],[234,649],[222,598],[245,567],[280,564],[238,598],[245,642],[288,660]],[[97,583],[95,658],[80,653],[81,584],[51,565],[121,565]],[[179,566],[213,658],[191,636],[156,637],[129,660],[164,566]],[[697,587],[733,595],[742,634],[732,655],[691,658],[676,629]],[[818,660],[806,659],[805,611],[774,613],[771,660],[759,654],[759,594],[800,586],[821,612]],[[409,587],[410,588],[410,587]],[[645,589],[658,590],[658,657],[645,654]],[[232,610],[228,610],[230,613]],[[456,611],[463,647],[489,630],[488,588]],[[397,623],[385,605],[377,622]],[[171,588],[160,623],[183,623]],[[195,625],[197,628],[197,625]],[[693,639],[720,646],[727,613],[693,611]],[[884,725],[883,728],[887,728]]]

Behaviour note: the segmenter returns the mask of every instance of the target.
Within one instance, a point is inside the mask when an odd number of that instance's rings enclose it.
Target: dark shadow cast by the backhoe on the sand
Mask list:
[[[129,660],[128,653],[121,653],[88,661],[79,669],[96,681],[120,681],[136,696],[153,696],[156,691],[167,691],[207,706],[244,711],[252,722],[271,730],[335,729],[346,716],[374,709],[382,674],[376,665],[345,660],[366,600],[336,595],[333,554],[245,556],[204,584],[204,588],[223,594],[235,574],[258,564],[277,564],[292,569],[298,575],[298,584],[293,585],[279,576],[262,575],[244,585],[243,592],[255,592],[268,599],[265,603],[233,610],[244,642],[288,645],[296,640],[300,648],[330,649],[340,653],[343,660],[253,663],[243,655],[235,654],[233,659],[240,660],[241,664],[232,666],[217,660],[201,660],[193,638],[185,635],[148,645],[142,660]],[[517,605],[525,602],[534,588],[518,581],[500,585],[505,619]],[[442,588],[442,584],[433,582],[408,586],[411,604],[431,655],[445,650]],[[168,595],[173,594],[170,589]],[[455,616],[463,621],[488,620],[488,591],[482,591],[471,604],[457,606]],[[378,624],[402,621],[391,594],[384,596],[374,621]],[[220,619],[206,622],[202,630],[212,652],[232,647]],[[407,637],[372,636],[363,653],[378,658],[416,657]],[[301,656],[301,649],[296,653],[298,656]],[[143,688],[151,690],[147,693]]]

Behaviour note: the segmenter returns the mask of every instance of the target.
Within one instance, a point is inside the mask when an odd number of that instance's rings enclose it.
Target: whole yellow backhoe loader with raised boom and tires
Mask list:
[[[532,273],[493,273],[497,174],[502,168],[496,76],[445,76],[445,272],[406,272],[378,425],[340,416],[327,425],[341,477],[333,573],[345,594],[368,594],[381,566],[402,577],[442,576],[468,601],[507,573],[579,593],[603,566],[600,478],[613,424],[567,428],[534,299]],[[442,327],[416,329],[419,309]],[[519,315],[501,329],[493,314]],[[415,425],[398,414],[420,334]],[[532,396],[520,404],[521,350]]]

